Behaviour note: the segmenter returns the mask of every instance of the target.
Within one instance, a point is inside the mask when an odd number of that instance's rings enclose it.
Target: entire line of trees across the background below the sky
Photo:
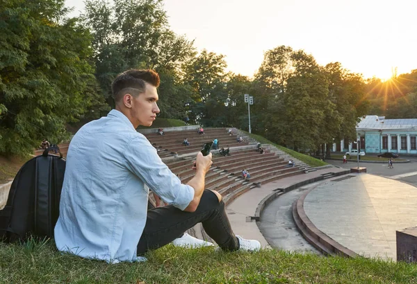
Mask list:
[[[1,2],[0,154],[62,141],[67,123],[106,115],[113,78],[131,68],[160,74],[163,118],[247,130],[250,94],[252,131],[299,151],[355,139],[354,126],[370,112],[416,114],[417,71],[389,85],[277,46],[248,78],[227,72],[224,55],[198,53],[175,34],[162,0],[87,0],[76,18],[67,17],[65,0]]]

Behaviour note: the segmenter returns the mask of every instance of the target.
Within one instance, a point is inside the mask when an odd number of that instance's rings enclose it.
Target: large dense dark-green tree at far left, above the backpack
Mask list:
[[[0,6],[0,153],[32,152],[67,136],[97,97],[89,31],[67,19],[64,0],[9,0]]]

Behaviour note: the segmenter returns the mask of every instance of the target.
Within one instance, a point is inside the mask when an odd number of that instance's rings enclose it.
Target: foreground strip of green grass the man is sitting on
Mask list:
[[[417,265],[288,251],[223,253],[167,245],[145,263],[60,254],[53,240],[0,244],[0,283],[416,283]]]

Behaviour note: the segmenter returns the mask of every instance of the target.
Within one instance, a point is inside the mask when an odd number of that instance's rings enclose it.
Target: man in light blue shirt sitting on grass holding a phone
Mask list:
[[[154,71],[121,73],[112,84],[115,109],[72,139],[55,227],[60,251],[108,263],[137,261],[199,222],[225,251],[261,247],[257,240],[235,236],[222,196],[204,190],[211,154],[197,154],[195,176],[181,184],[136,132],[139,125],[151,126],[159,113],[158,85]],[[168,205],[147,210],[145,184]]]

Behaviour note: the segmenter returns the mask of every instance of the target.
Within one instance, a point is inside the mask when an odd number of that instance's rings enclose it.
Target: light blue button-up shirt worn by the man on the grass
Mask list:
[[[108,263],[136,261],[147,218],[148,190],[183,210],[194,189],[158,157],[145,136],[113,109],[79,130],[70,143],[56,247]]]

